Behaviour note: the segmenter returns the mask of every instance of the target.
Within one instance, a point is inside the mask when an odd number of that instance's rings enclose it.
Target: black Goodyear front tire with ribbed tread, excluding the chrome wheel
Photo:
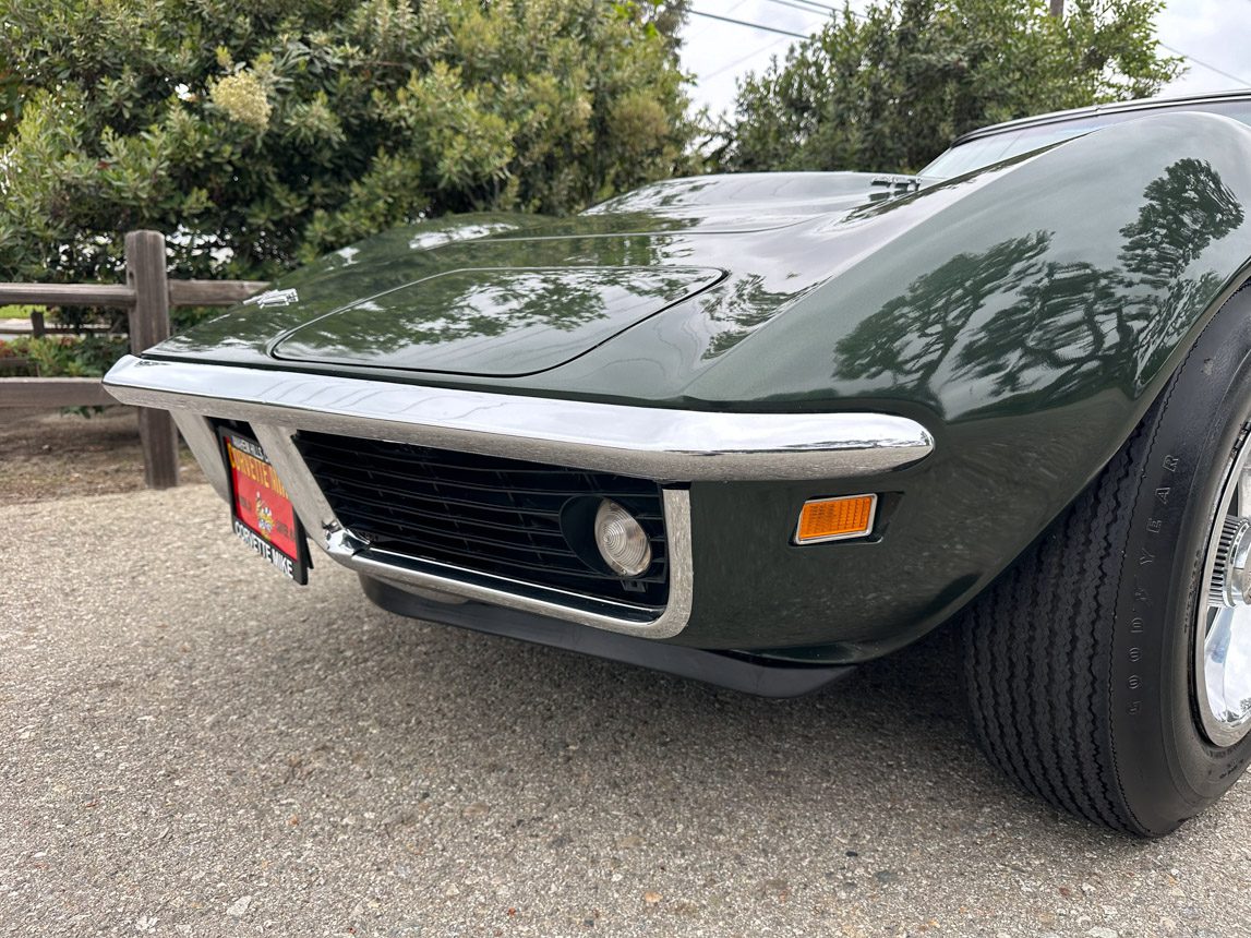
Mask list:
[[[1193,644],[1222,466],[1248,428],[1251,288],[1091,487],[966,613],[973,732],[1057,808],[1158,837],[1251,760],[1251,737],[1221,747],[1202,732]]]

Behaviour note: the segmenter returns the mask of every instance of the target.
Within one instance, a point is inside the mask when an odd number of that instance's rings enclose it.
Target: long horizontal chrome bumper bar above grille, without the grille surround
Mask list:
[[[133,355],[104,384],[124,404],[672,482],[873,475],[933,450],[924,426],[887,414],[672,410]]]

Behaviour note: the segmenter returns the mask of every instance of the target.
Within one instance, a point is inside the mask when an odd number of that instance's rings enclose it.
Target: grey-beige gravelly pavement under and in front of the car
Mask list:
[[[0,527],[3,934],[1251,933],[1246,780],[1058,815],[943,640],[768,702],[291,587],[204,485]]]

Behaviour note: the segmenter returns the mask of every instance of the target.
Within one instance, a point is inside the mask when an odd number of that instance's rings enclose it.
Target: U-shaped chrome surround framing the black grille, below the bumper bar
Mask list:
[[[447,574],[417,569],[418,564],[405,565],[408,558],[394,557],[380,550],[370,550],[369,544],[353,535],[335,518],[334,510],[309,472],[293,443],[295,430],[290,426],[253,424],[253,433],[260,443],[269,461],[283,480],[286,494],[290,495],[295,513],[309,533],[309,538],[332,559],[344,567],[364,573],[392,585],[408,589],[428,589],[448,593],[464,599],[520,609],[553,619],[592,625],[608,632],[619,632],[642,638],[671,638],[686,628],[691,618],[693,602],[692,559],[691,559],[691,502],[686,489],[663,489],[664,527],[669,550],[669,598],[663,610],[647,618],[652,612],[642,607],[628,607],[612,600],[580,598],[564,590],[542,587],[534,583],[515,582],[509,588],[504,577],[483,574],[478,570],[463,570],[465,579],[458,578],[459,568],[450,564],[422,563],[425,568],[443,568]],[[472,580],[472,582],[470,582]],[[488,582],[499,582],[499,587]],[[522,590],[518,593],[515,590]],[[548,594],[553,599],[542,599],[535,594]],[[562,602],[563,599],[563,602]],[[570,603],[579,603],[570,604]],[[618,607],[619,614],[594,612],[583,607],[609,609]]]

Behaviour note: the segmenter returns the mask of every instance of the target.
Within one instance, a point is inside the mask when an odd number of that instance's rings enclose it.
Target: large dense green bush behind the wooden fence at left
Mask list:
[[[684,0],[0,0],[0,279],[268,276],[672,175]]]

